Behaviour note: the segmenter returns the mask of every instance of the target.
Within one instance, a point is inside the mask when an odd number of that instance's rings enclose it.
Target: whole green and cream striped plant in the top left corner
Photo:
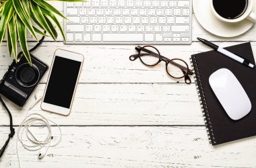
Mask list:
[[[20,46],[26,56],[26,59],[31,64],[30,53],[28,50],[28,44],[26,39],[26,30],[32,34],[32,36],[38,40],[36,34],[40,36],[51,36],[53,40],[56,40],[58,34],[55,30],[55,26],[61,31],[63,40],[65,41],[65,35],[61,24],[59,23],[55,14],[66,17],[59,12],[55,7],[46,2],[47,0],[0,0],[0,45],[4,36],[7,36],[8,52],[14,55],[17,61],[17,43],[20,41]],[[52,0],[52,1],[86,1],[86,0]],[[36,28],[35,25],[38,26]],[[55,26],[53,25],[55,24]],[[43,30],[47,32],[44,34]]]

